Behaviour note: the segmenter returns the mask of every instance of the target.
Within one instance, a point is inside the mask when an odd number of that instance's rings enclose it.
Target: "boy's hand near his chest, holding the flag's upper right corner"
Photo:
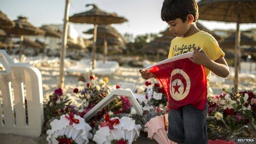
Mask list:
[[[203,50],[200,50],[199,46],[198,48],[193,47],[193,50],[194,50],[193,56],[192,58],[190,57],[189,59],[196,64],[206,66],[206,64],[208,64],[210,61],[206,53]]]

